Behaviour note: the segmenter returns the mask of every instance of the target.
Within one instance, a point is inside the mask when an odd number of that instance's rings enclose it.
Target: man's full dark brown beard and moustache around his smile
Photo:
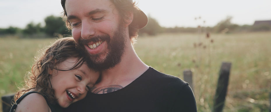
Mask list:
[[[110,69],[115,67],[115,65],[119,64],[124,54],[125,48],[125,33],[123,32],[124,28],[121,26],[115,31],[112,38],[109,35],[98,35],[95,37],[91,37],[88,40],[80,39],[78,41],[78,46],[84,49],[84,57],[87,59],[87,65],[97,71]],[[87,45],[88,42],[98,42],[103,41],[107,43],[107,49],[105,52],[99,54],[89,54],[84,45]],[[104,59],[102,57],[105,56]]]

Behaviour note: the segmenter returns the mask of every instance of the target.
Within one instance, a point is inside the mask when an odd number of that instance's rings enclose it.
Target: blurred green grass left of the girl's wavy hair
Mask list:
[[[17,86],[23,84],[21,82],[24,75],[31,70],[35,54],[53,41],[54,39],[0,38],[0,96],[18,90]]]

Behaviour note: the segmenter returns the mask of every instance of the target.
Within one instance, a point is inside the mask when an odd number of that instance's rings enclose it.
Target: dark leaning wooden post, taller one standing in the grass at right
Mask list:
[[[217,90],[214,96],[214,107],[213,107],[212,112],[222,112],[222,109],[225,104],[227,89],[228,89],[230,67],[231,67],[231,63],[222,62],[222,65],[219,71]]]

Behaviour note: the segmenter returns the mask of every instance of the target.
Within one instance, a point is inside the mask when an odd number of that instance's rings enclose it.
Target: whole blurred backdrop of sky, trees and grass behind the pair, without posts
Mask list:
[[[190,70],[198,112],[214,109],[222,62],[232,64],[223,111],[271,111],[271,0],[134,1],[149,17],[136,53],[180,79]],[[71,34],[62,11],[60,0],[0,0],[0,97],[24,84],[41,49]]]

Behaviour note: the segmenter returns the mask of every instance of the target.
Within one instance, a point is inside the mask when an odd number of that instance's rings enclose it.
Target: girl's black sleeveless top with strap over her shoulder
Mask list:
[[[27,93],[25,93],[24,95],[22,95],[19,99],[17,99],[16,103],[13,104],[13,106],[12,106],[11,109],[10,109],[10,112],[14,112],[15,109],[17,108],[17,104],[19,104],[19,103],[22,101],[22,99],[24,99],[24,97],[26,97],[27,95],[29,95],[29,94],[31,94],[31,93],[38,93],[38,92],[36,92],[36,91],[31,91],[31,92],[27,92]],[[38,93],[38,94],[42,95],[41,93]],[[47,97],[46,97],[45,95],[42,95],[42,96],[45,98],[45,100],[46,100],[46,102],[47,102],[47,104],[48,104],[48,106],[50,107],[50,109],[51,109],[52,112],[62,112],[62,108],[61,108],[58,104],[54,104],[54,105],[53,105],[53,104],[50,104],[50,103],[47,101]]]

